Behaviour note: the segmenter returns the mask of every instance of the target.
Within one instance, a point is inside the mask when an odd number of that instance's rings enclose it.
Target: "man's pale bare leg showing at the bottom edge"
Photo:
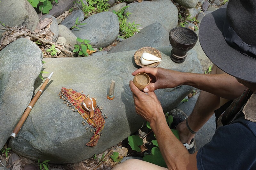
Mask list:
[[[155,164],[139,160],[139,159],[128,159],[121,164],[116,165],[112,170],[168,170],[167,168],[157,166]]]

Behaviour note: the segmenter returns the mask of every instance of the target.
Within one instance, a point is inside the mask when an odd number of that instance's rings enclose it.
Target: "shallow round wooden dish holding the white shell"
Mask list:
[[[135,53],[134,53],[134,61],[135,63],[140,66],[140,67],[156,67],[158,66],[158,64],[160,64],[160,62],[157,63],[153,63],[153,64],[149,64],[149,65],[142,65],[140,63],[140,57],[143,53],[149,53],[152,55],[155,55],[158,58],[162,58],[161,53],[159,50],[157,50],[156,48],[152,48],[152,47],[143,47],[138,49]]]

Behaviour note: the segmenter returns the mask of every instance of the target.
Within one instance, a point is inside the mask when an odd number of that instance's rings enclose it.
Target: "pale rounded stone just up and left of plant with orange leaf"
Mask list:
[[[70,29],[66,26],[59,25],[59,35],[66,39],[68,45],[75,45],[76,43],[76,35],[72,33]]]

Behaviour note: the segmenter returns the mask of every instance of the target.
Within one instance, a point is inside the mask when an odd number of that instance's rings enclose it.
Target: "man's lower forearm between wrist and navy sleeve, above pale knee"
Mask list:
[[[156,135],[157,143],[168,169],[197,169],[196,153],[189,154],[184,145],[172,133],[165,117],[151,122],[150,126]]]

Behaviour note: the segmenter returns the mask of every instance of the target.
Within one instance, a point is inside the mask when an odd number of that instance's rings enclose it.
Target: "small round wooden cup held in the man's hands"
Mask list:
[[[146,73],[138,73],[134,76],[132,81],[140,91],[143,91],[143,89],[150,83],[150,78]]]

